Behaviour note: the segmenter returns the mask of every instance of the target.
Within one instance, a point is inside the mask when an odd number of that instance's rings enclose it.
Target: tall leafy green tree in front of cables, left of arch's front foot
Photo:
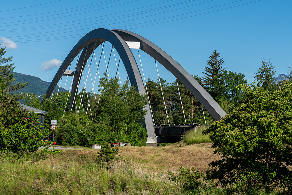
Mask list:
[[[93,121],[98,125],[108,125],[112,137],[107,142],[127,142],[145,146],[147,133],[142,125],[147,96],[140,94],[134,86],[125,82],[120,86],[118,79],[107,77],[100,80],[100,97],[92,110]],[[110,140],[112,139],[112,140]]]

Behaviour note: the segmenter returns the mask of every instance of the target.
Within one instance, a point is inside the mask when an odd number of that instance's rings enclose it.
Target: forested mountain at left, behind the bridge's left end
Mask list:
[[[51,84],[51,82],[43,81],[39,77],[25,75],[25,74],[16,73],[16,72],[13,72],[13,73],[15,74],[14,77],[16,77],[16,81],[13,84],[15,84],[16,82],[25,83],[29,81],[29,84],[25,88],[22,88],[18,90],[17,92],[33,93],[35,95],[42,97],[44,93],[46,93],[49,85]],[[58,91],[58,88],[59,86],[57,85],[55,87],[55,91]],[[63,90],[64,89],[60,87],[59,91],[63,91]],[[68,92],[68,90],[65,89],[65,92]]]

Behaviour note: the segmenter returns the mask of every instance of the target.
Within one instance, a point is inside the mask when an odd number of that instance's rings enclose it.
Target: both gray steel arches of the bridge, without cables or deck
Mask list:
[[[71,94],[72,92],[73,94],[77,93],[77,85],[80,82],[79,77],[81,77],[82,71],[85,67],[84,64],[87,62],[86,58],[89,58],[89,56],[92,54],[94,46],[96,48],[105,41],[110,42],[117,50],[121,60],[124,63],[131,84],[133,84],[141,94],[146,93],[144,83],[137,62],[126,41],[140,42],[142,44],[141,50],[156,59],[176,78],[178,78],[178,80],[184,84],[187,89],[190,90],[190,92],[202,103],[202,105],[205,106],[205,108],[211,113],[215,120],[219,120],[221,117],[226,115],[223,109],[210,96],[210,94],[208,94],[208,92],[206,92],[206,90],[179,63],[171,58],[171,56],[166,54],[166,52],[144,37],[126,30],[107,30],[101,28],[92,30],[84,37],[82,37],[60,66],[46,92],[46,98],[51,96],[55,85],[59,82],[63,75],[63,71],[68,68],[71,62],[71,58],[74,59],[83,49],[77,63],[77,77],[74,77],[71,90]],[[74,97],[71,95],[70,108],[74,108],[73,98]],[[147,142],[156,143],[154,123],[152,120],[152,113],[150,112],[149,104],[146,106],[146,109],[148,111],[145,115],[145,125],[148,135]]]

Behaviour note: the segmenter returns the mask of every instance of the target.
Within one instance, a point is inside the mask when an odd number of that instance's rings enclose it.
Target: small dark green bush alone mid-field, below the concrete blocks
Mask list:
[[[102,146],[102,149],[98,152],[98,155],[96,157],[96,160],[98,163],[102,163],[102,162],[112,162],[115,159],[119,158],[118,155],[118,147],[112,147],[110,144],[104,144]]]

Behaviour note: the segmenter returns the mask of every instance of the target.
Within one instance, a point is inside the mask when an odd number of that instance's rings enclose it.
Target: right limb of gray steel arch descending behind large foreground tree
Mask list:
[[[201,102],[209,113],[219,120],[226,115],[225,111],[219,104],[208,94],[208,92],[188,73],[178,62],[165,51],[160,49],[144,37],[127,30],[112,30],[117,32],[125,41],[141,42],[142,51],[156,59],[169,72],[171,72],[190,92]]]

